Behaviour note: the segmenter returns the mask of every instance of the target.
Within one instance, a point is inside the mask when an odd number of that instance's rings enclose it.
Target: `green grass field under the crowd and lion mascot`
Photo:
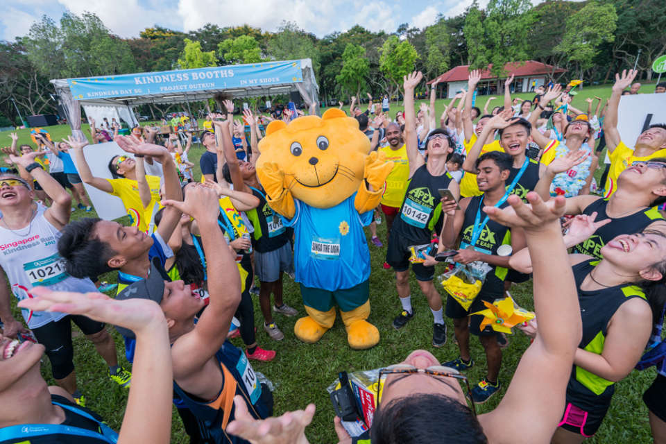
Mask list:
[[[592,96],[599,95],[604,99],[610,94],[610,88],[589,87],[583,90],[585,94]],[[531,96],[531,94],[529,94]],[[581,94],[582,95],[582,94]],[[577,96],[577,101],[581,100],[581,95]],[[520,96],[520,95],[519,95]],[[497,101],[501,101],[497,100]],[[497,102],[495,101],[495,102]],[[581,103],[574,101],[574,106],[580,108]],[[481,108],[483,108],[485,98],[481,97]],[[438,101],[438,108],[443,109],[442,101]],[[438,111],[441,113],[441,109]],[[67,126],[56,126],[47,128],[55,139],[60,139],[69,134]],[[86,130],[87,128],[84,128]],[[19,142],[28,142],[27,130],[19,131]],[[0,133],[0,146],[9,144],[10,139],[3,139],[6,133]],[[194,146],[192,148],[190,159],[197,165],[198,157],[203,153],[203,148]],[[90,213],[77,210],[72,218],[89,216]],[[379,238],[386,239],[386,225],[378,226]],[[368,233],[369,243],[369,233]],[[420,293],[416,281],[411,278],[412,303],[415,309],[413,320],[402,330],[396,331],[391,327],[391,321],[400,311],[397,293],[395,291],[395,280],[393,273],[382,268],[384,257],[386,255],[386,246],[383,248],[370,247],[370,257],[372,261],[373,273],[370,275],[370,301],[372,312],[368,321],[374,323],[379,328],[382,339],[375,348],[366,351],[350,350],[347,345],[344,327],[341,321],[327,332],[319,343],[307,345],[298,341],[293,335],[293,325],[296,318],[286,318],[277,315],[275,321],[285,334],[284,341],[275,342],[268,338],[268,335],[262,329],[262,316],[259,311],[258,298],[255,298],[255,325],[257,325],[257,341],[263,348],[277,350],[278,356],[271,363],[255,364],[256,370],[264,373],[275,384],[275,414],[279,415],[287,410],[300,409],[305,407],[308,402],[314,402],[317,406],[317,413],[313,423],[307,429],[307,435],[312,443],[335,443],[336,436],[333,431],[333,409],[328,399],[325,388],[335,379],[337,373],[341,370],[354,371],[362,369],[377,368],[402,361],[411,350],[425,348],[434,353],[438,359],[445,361],[458,356],[458,350],[454,345],[453,326],[447,321],[450,329],[449,341],[440,349],[432,348],[432,314],[425,297]],[[438,271],[439,273],[443,271]],[[103,280],[115,281],[112,273],[103,276]],[[442,287],[438,284],[438,289],[443,293]],[[553,289],[558,291],[558,289]],[[511,293],[515,300],[522,307],[533,309],[531,297],[531,282],[519,284]],[[300,300],[300,292],[297,284],[291,279],[284,280],[284,300],[292,307],[300,311],[300,316],[305,315]],[[19,316],[18,312],[15,315]],[[75,327],[76,329],[76,327]],[[115,330],[110,329],[117,342],[119,354],[123,355],[123,343],[121,337]],[[479,412],[483,413],[492,410],[502,398],[506,386],[511,381],[513,371],[518,364],[522,352],[529,345],[526,336],[517,332],[509,337],[509,348],[504,350],[502,362],[502,371],[500,373],[500,382],[502,382],[502,391],[499,395],[491,398],[486,404],[479,406]],[[485,375],[486,360],[483,349],[477,339],[472,338],[472,357],[475,358],[476,366],[468,371],[468,376],[472,384],[479,381]],[[78,384],[80,390],[87,397],[87,405],[97,411],[107,420],[114,429],[119,429],[123,418],[124,407],[127,401],[127,392],[114,386],[106,379],[106,368],[101,357],[96,355],[94,347],[83,336],[77,336],[74,339],[75,356],[74,361],[77,369]],[[236,345],[242,346],[240,339],[234,339]],[[124,358],[121,361],[125,362]],[[165,365],[168,365],[165,363]],[[51,369],[48,359],[44,358],[42,373],[49,383],[53,383],[51,378]],[[599,429],[597,436],[590,439],[590,443],[648,443],[651,442],[649,422],[647,419],[647,408],[642,402],[643,391],[651,384],[654,379],[654,369],[644,372],[634,371],[617,384],[617,391],[613,404],[610,407],[608,416],[604,424]],[[547,384],[547,377],[544,375],[544,384]],[[526,397],[531,393],[525,393]],[[148,406],[146,400],[146,407]],[[436,416],[434,416],[436,418]],[[507,425],[511,427],[511,425]],[[520,433],[520,431],[516,431]],[[173,416],[173,443],[189,442],[178,415]]]

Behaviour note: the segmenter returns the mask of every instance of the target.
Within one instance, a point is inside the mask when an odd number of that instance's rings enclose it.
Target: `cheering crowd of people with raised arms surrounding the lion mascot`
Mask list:
[[[666,124],[651,124],[635,143],[622,140],[618,106],[625,92],[638,92],[635,76],[617,74],[594,112],[593,100],[586,111],[574,108],[570,86],[558,84],[537,87],[532,101],[512,99],[512,77],[504,105],[488,112],[487,101],[481,112],[472,94],[479,71],[470,71],[468,89],[439,124],[436,83],[416,109],[420,72],[405,76],[395,119],[386,96],[381,111],[372,97],[366,110],[352,99],[370,151],[393,163],[379,207],[364,218],[371,244],[386,242],[384,268],[395,272],[392,326],[415,322],[413,272],[432,311],[432,346],[447,342],[450,318],[459,350],[442,363],[416,350],[382,370],[371,442],[580,443],[599,429],[615,383],[645,364],[646,349],[666,348]],[[191,443],[308,442],[314,405],[273,417],[271,382],[250,364],[276,357],[257,343],[252,293],[273,341],[285,339],[280,316],[298,314],[282,295],[283,275],[293,278],[293,229],[257,176],[258,143],[269,121],[305,112],[245,109],[240,123],[234,104],[223,105],[226,114],[208,114],[198,137],[200,178],[187,157],[191,134],[163,137],[146,126],[123,136],[116,122],[92,120],[94,143],[114,140],[126,153],[109,156],[112,178],[92,173],[87,139],[37,134],[35,148],[17,146],[12,134],[2,150],[9,168],[0,172],[1,442],[167,443],[171,402]],[[191,125],[183,117],[174,126]],[[84,183],[120,198],[131,223],[70,221],[73,200],[92,210]],[[377,236],[382,218],[386,239]],[[481,273],[468,305],[434,282],[438,269],[454,266]],[[100,282],[109,272],[117,284]],[[513,375],[502,376],[508,341],[479,311],[529,279],[536,317],[518,328],[532,341]],[[112,290],[114,297],[101,292]],[[72,322],[108,365],[110,382],[130,389],[118,433],[85,408]],[[131,373],[106,324],[123,337]],[[472,357],[470,335],[485,363]],[[228,341],[234,336],[244,350]],[[56,386],[40,373],[44,353]],[[666,443],[666,351],[658,358],[649,362],[658,375],[644,402],[654,442]],[[470,384],[464,373],[475,365],[486,375]],[[477,416],[475,404],[502,384],[497,407]],[[341,443],[364,442],[340,418],[333,427]]]

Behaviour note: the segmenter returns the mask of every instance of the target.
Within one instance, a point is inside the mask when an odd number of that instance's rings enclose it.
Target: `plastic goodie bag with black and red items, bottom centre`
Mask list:
[[[352,438],[370,438],[377,409],[377,389],[379,388],[379,370],[359,372],[341,372],[326,389],[330,395],[335,414]]]

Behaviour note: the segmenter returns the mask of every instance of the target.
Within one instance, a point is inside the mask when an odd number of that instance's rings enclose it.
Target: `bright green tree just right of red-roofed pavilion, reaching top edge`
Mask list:
[[[589,1],[567,19],[566,32],[555,50],[567,54],[570,62],[577,65],[580,78],[583,78],[584,71],[592,67],[599,45],[615,39],[613,31],[616,24],[615,6]]]

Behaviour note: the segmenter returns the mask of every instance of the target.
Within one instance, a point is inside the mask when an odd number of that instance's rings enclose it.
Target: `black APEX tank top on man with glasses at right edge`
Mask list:
[[[593,212],[597,212],[597,221],[602,221],[608,219],[606,207],[608,207],[608,199],[599,198],[590,203],[590,205],[583,210],[583,214],[590,215]],[[615,236],[642,232],[647,225],[660,220],[663,221],[664,218],[659,210],[657,210],[657,207],[640,210],[633,214],[629,214],[628,216],[618,217],[599,228],[599,230],[597,230],[595,234],[592,234],[589,239],[578,244],[576,246],[576,251],[583,255],[601,259],[601,247],[608,244],[608,241],[612,240]]]

